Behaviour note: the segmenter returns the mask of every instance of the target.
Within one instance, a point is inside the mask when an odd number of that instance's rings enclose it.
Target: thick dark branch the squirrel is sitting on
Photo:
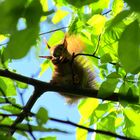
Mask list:
[[[138,99],[137,97],[131,97],[131,99],[128,99],[127,96],[123,94],[118,93],[112,93],[111,96],[107,98],[98,97],[98,90],[95,89],[86,89],[86,88],[77,88],[77,87],[66,87],[66,86],[58,86],[51,83],[46,83],[40,80],[36,80],[33,78],[29,78],[26,76],[22,76],[13,72],[10,72],[8,70],[0,70],[0,76],[4,76],[7,78],[11,78],[13,80],[17,80],[23,83],[30,84],[36,88],[38,88],[40,91],[37,94],[38,97],[42,95],[43,92],[46,91],[55,91],[55,92],[65,92],[66,95],[76,95],[76,96],[82,96],[82,97],[91,97],[91,98],[98,98],[103,100],[109,100],[109,101],[119,101],[119,99],[126,100],[128,102],[136,102]],[[85,94],[86,93],[86,94]]]

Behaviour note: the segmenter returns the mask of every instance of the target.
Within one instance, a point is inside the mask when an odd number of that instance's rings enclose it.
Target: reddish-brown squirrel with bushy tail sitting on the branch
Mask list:
[[[54,65],[52,79],[50,83],[62,86],[75,86],[79,88],[95,89],[94,69],[88,63],[86,56],[76,54],[83,52],[85,44],[78,35],[66,34],[61,44],[50,47],[50,59]],[[66,95],[59,93],[66,98],[68,104],[77,102],[81,96]],[[85,93],[86,94],[86,93]]]

